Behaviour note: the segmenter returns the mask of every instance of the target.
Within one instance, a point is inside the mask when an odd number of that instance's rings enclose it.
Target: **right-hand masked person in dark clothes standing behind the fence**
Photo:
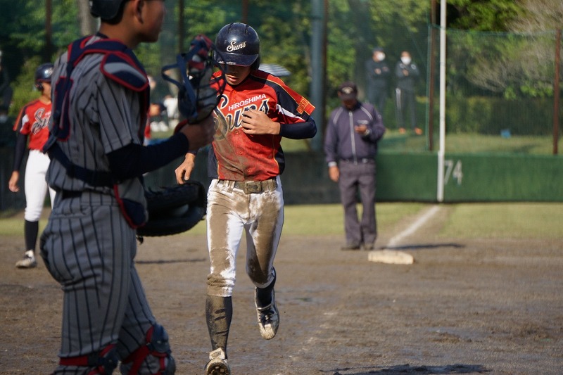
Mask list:
[[[397,87],[395,89],[395,103],[397,125],[401,134],[405,133],[405,115],[408,107],[410,114],[410,127],[415,134],[422,134],[422,129],[417,127],[415,84],[420,75],[417,65],[412,62],[409,51],[400,54],[395,68]]]

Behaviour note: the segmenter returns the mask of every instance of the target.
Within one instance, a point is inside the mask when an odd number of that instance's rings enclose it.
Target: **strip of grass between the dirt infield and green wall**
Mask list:
[[[377,203],[380,233],[428,207],[426,203]],[[563,239],[563,203],[457,203],[445,205],[439,236],[481,239]],[[46,219],[40,222],[43,229]],[[202,221],[185,235],[205,233]],[[341,205],[286,205],[284,234],[343,234]],[[0,236],[23,236],[22,215],[0,218]]]

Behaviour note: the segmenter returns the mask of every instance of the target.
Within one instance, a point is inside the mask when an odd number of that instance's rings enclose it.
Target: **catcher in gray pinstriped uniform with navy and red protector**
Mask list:
[[[53,374],[174,374],[168,335],[134,265],[146,222],[141,176],[213,139],[213,119],[143,146],[148,79],[132,49],[156,42],[163,0],[91,0],[99,31],[68,47],[53,71],[45,146],[57,191],[41,255],[62,286],[60,361]]]

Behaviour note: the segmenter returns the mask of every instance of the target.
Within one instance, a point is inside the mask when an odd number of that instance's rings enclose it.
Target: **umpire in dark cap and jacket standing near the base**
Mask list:
[[[358,101],[358,87],[344,82],[339,87],[342,105],[334,109],[327,125],[324,153],[329,177],[339,183],[344,207],[346,244],[342,250],[372,250],[377,239],[375,218],[375,155],[385,127],[379,112],[369,103]],[[358,220],[357,194],[362,201]]]

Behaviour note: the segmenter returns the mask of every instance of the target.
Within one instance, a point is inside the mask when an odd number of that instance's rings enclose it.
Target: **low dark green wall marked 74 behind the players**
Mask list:
[[[194,179],[208,185],[206,153],[196,160]],[[146,186],[175,184],[178,159],[146,174]],[[563,157],[561,155],[445,155],[444,202],[563,201]],[[0,148],[0,210],[25,207],[23,180],[19,193],[8,191],[13,148]],[[25,163],[24,163],[25,165]],[[436,202],[438,178],[436,153],[384,151],[377,156],[378,201]],[[24,168],[21,176],[24,176]],[[286,204],[339,203],[338,185],[331,182],[319,153],[286,154],[281,175]]]

